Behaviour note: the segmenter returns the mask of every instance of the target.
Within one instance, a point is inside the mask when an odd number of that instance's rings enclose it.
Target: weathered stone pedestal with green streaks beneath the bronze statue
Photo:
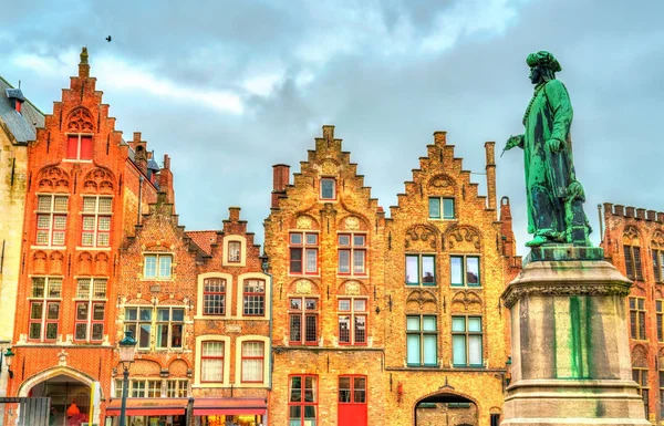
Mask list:
[[[535,248],[502,293],[511,382],[501,425],[650,425],[632,381],[631,281],[600,248]]]

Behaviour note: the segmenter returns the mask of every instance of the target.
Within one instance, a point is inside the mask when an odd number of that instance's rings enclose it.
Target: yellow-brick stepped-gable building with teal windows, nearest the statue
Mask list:
[[[391,208],[385,248],[386,425],[498,425],[509,311],[500,303],[520,270],[509,200],[497,220],[494,143],[488,196],[436,132],[427,157]]]

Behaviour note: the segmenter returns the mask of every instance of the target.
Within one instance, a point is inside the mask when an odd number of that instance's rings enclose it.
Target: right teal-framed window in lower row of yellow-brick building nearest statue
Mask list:
[[[481,366],[481,318],[452,318],[452,350],[455,366]]]

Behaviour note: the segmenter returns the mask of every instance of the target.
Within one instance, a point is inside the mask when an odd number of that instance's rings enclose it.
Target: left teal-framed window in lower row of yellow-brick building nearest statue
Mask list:
[[[407,364],[438,365],[438,331],[436,316],[406,316]]]

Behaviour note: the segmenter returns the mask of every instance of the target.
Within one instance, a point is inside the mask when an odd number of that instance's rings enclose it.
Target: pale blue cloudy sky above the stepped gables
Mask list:
[[[189,230],[228,206],[262,242],[272,165],[299,162],[323,124],[388,210],[447,131],[484,173],[532,93],[525,58],[551,51],[574,107],[577,174],[598,241],[599,202],[664,210],[664,2],[609,0],[13,1],[0,14],[0,75],[45,113],[77,72],[92,75],[125,139],[173,158]],[[111,34],[113,41],[104,39]],[[526,228],[522,156],[498,159],[498,196]],[[483,175],[474,175],[485,191]],[[525,252],[520,249],[520,252]]]

